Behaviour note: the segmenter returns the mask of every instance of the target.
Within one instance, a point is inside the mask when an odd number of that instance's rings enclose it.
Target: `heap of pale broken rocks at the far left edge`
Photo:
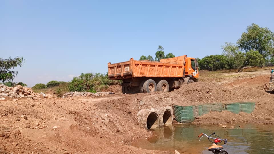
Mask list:
[[[36,93],[33,92],[31,88],[23,87],[18,85],[16,87],[8,87],[0,84],[0,97],[7,96],[12,98],[31,98],[31,99],[41,99],[41,98],[52,98],[49,94]]]

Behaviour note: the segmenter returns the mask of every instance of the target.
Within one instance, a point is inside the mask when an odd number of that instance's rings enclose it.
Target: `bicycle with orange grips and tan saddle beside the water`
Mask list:
[[[212,133],[211,135],[215,135],[215,133]],[[208,140],[213,143],[212,146],[208,148],[208,151],[211,151],[214,154],[228,154],[226,151],[227,139],[222,139],[221,137],[219,137],[217,135],[215,135],[215,136],[217,136],[219,138],[210,137],[211,135],[207,136],[206,134],[201,133],[198,136],[198,138],[200,138],[201,136],[202,137],[206,136],[208,138]],[[202,139],[202,137],[199,139],[199,141]],[[213,141],[211,141],[210,139],[213,139]],[[223,146],[217,145],[217,144],[221,143],[222,141],[225,144],[225,150],[223,150]]]

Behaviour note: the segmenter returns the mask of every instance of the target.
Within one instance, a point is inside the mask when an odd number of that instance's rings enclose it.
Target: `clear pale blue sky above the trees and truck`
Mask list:
[[[0,1],[1,58],[23,56],[29,86],[107,72],[108,62],[221,54],[251,23],[274,31],[274,1]]]

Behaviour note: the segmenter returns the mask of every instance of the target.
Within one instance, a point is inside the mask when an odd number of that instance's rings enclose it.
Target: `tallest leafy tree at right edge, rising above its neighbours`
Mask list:
[[[252,24],[247,27],[237,41],[239,47],[245,52],[258,51],[264,58],[274,53],[274,33],[267,27]]]

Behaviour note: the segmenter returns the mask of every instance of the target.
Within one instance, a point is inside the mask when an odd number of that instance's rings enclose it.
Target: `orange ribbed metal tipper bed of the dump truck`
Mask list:
[[[161,59],[160,62],[148,60],[134,60],[111,64],[108,63],[108,77],[111,80],[135,77],[170,77],[184,76],[184,56]]]

